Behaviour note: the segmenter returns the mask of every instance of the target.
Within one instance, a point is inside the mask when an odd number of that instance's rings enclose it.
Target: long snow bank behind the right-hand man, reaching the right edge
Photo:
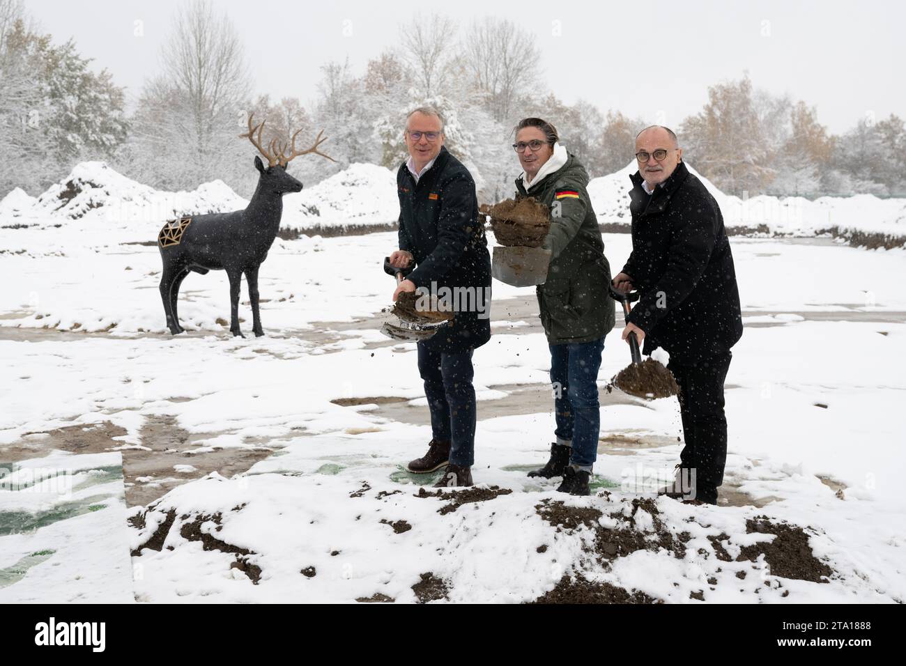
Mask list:
[[[906,200],[877,198],[871,194],[853,197],[822,197],[814,201],[803,197],[739,198],[726,195],[687,163],[689,172],[698,176],[718,201],[724,224],[731,233],[765,233],[779,236],[814,236],[835,233],[889,236],[906,242]],[[634,161],[609,176],[588,184],[594,212],[602,225],[612,231],[628,230],[630,175],[638,167]]]

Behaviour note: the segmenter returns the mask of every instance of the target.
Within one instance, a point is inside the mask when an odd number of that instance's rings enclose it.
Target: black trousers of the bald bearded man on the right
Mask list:
[[[724,380],[732,352],[707,360],[667,364],[679,384],[679,413],[686,445],[679,454],[682,468],[695,469],[696,486],[716,489],[724,481],[727,464],[727,417],[724,415]]]

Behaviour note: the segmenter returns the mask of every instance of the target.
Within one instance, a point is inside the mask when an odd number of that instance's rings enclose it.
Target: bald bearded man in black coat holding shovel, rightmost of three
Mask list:
[[[622,337],[670,352],[685,446],[661,494],[717,504],[727,460],[724,380],[742,335],[736,270],[718,202],[682,162],[676,134],[653,126],[635,140],[632,252],[613,285],[641,292]]]

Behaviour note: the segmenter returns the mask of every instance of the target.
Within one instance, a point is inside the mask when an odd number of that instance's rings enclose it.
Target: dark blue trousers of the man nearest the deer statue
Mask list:
[[[431,436],[450,442],[450,463],[475,462],[475,389],[472,352],[432,352],[419,343],[419,374],[431,412]]]

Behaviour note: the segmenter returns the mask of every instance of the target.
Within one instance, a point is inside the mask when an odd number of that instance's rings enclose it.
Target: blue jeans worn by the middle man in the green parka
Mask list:
[[[604,338],[590,343],[550,344],[557,443],[571,446],[570,464],[591,472],[598,458],[601,411],[598,370]]]

